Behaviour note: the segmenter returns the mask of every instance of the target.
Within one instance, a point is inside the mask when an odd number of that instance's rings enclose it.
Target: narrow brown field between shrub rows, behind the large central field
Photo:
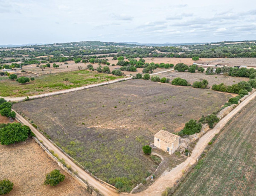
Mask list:
[[[206,79],[209,84],[208,86],[212,86],[213,84],[221,84],[222,82],[226,85],[233,85],[237,84],[241,81],[249,81],[249,78],[242,78],[242,77],[232,77],[221,74],[215,74],[215,75],[206,75],[205,73],[201,72],[165,72],[157,74],[160,78],[166,77],[170,78],[170,81],[172,81],[174,78],[182,78],[187,80],[190,84],[193,84],[195,81],[200,81],[200,79]]]

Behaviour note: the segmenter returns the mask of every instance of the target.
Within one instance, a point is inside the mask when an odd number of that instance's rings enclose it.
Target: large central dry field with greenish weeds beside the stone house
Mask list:
[[[142,152],[155,133],[178,132],[191,118],[218,110],[232,96],[140,79],[13,107],[100,179],[115,184],[122,177],[128,191],[157,167]]]

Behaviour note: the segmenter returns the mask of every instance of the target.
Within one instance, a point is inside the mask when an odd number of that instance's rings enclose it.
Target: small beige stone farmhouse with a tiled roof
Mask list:
[[[177,150],[180,144],[180,136],[160,130],[154,135],[154,146],[162,149],[163,151],[172,153]]]

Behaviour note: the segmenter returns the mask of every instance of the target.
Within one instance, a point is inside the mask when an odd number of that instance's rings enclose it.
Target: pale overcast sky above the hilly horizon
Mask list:
[[[256,40],[255,0],[0,0],[0,45]]]

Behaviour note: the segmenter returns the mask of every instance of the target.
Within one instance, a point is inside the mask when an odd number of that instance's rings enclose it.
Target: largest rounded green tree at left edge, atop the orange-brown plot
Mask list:
[[[29,136],[27,126],[20,123],[8,124],[0,129],[0,143],[2,145],[14,144],[15,142],[25,141]]]

